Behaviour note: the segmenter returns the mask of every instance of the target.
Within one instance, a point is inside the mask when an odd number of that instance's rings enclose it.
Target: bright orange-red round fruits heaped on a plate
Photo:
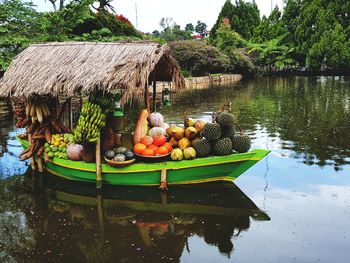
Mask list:
[[[163,135],[152,138],[145,136],[139,143],[134,145],[135,155],[144,160],[166,159],[173,150],[172,145],[167,142]]]

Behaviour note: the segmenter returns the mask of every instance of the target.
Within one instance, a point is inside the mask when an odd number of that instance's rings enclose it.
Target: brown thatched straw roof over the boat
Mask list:
[[[122,102],[144,94],[150,80],[184,78],[166,45],[154,42],[55,42],[35,44],[20,53],[0,81],[0,97],[56,96],[94,89],[125,88]]]

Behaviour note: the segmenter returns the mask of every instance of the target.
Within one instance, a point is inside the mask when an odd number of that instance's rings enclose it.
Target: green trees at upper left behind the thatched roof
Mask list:
[[[47,41],[116,41],[140,39],[128,21],[103,8],[91,11],[92,0],[73,0],[56,12],[38,13],[32,3],[5,0],[0,4],[0,70],[6,70],[15,55],[31,43]]]

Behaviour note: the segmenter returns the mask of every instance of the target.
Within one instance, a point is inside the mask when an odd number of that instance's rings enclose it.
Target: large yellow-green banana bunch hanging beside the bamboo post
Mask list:
[[[74,138],[77,143],[96,142],[100,129],[106,125],[106,115],[96,103],[85,102],[81,108]]]

